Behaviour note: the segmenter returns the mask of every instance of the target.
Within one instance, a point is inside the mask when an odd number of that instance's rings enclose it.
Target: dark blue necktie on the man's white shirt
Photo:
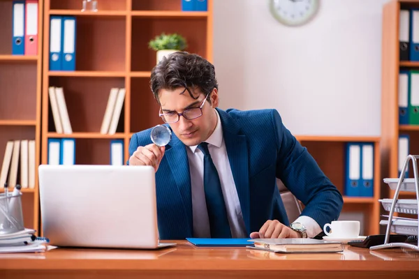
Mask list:
[[[208,218],[210,219],[211,237],[214,239],[229,239],[231,238],[230,225],[228,225],[226,204],[218,172],[212,162],[207,142],[199,144],[198,149],[204,153],[204,191]]]

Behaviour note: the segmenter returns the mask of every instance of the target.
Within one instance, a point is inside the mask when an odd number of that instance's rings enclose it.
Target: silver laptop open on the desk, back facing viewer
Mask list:
[[[38,167],[43,234],[50,245],[157,249],[154,168],[112,165]]]

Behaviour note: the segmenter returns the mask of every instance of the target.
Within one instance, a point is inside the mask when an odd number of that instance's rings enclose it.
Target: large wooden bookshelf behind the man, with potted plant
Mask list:
[[[50,138],[75,139],[76,164],[110,163],[110,141],[124,140],[128,160],[131,135],[161,123],[149,89],[156,52],[148,41],[163,31],[188,40],[187,51],[212,60],[212,0],[206,12],[182,12],[182,1],[100,0],[98,12],[82,12],[82,1],[45,0],[43,38],[42,154]],[[50,16],[76,17],[74,71],[49,70]],[[73,133],[59,134],[50,111],[48,86],[62,86]],[[126,89],[117,133],[102,135],[101,121],[110,88]]]

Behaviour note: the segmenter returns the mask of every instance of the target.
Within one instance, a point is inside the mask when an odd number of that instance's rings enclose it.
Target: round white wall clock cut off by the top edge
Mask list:
[[[320,0],[270,0],[272,15],[288,26],[298,26],[311,20],[318,11]]]

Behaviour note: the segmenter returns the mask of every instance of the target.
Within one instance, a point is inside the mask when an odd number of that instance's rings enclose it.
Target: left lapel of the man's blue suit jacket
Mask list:
[[[192,195],[191,195],[191,174],[189,173],[189,159],[184,144],[172,133],[170,149],[164,154],[176,181],[177,188],[182,196],[182,202],[189,223],[189,235],[193,235],[192,223]],[[174,216],[175,217],[175,216]]]

